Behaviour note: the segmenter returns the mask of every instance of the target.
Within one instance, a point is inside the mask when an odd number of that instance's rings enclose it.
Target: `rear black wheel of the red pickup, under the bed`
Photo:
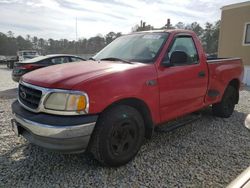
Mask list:
[[[237,103],[237,92],[233,86],[229,85],[224,92],[221,102],[212,105],[213,114],[222,118],[230,117]]]

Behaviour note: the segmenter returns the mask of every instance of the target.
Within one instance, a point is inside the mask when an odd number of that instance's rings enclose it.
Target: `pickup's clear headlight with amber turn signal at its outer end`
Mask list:
[[[51,93],[44,102],[47,110],[88,113],[87,94]]]

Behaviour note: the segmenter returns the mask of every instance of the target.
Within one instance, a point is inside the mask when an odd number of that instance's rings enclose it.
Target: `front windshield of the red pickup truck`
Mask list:
[[[168,37],[168,33],[137,33],[117,38],[93,58],[118,58],[152,63]]]

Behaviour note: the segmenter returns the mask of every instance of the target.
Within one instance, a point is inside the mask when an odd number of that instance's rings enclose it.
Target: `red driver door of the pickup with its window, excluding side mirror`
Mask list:
[[[188,60],[184,64],[161,67],[158,72],[162,122],[201,108],[207,90],[206,64],[199,61],[192,36],[175,37],[164,61],[169,61],[174,51],[185,52]]]

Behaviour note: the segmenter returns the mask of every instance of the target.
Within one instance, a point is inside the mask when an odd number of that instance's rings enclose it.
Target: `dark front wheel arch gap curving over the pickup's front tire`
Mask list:
[[[145,138],[150,139],[154,132],[154,122],[152,118],[152,114],[150,112],[150,108],[148,105],[141,99],[138,98],[125,98],[120,99],[118,101],[113,102],[109,106],[107,106],[104,111],[117,106],[117,105],[128,105],[136,110],[142,115],[144,126],[145,126]]]

